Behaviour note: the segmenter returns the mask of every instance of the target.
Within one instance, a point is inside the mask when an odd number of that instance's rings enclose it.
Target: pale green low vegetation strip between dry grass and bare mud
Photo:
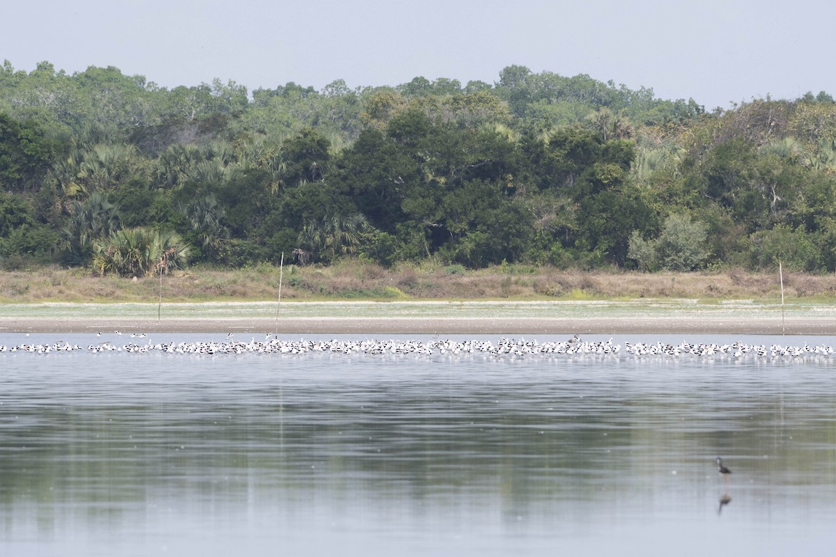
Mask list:
[[[34,321],[99,320],[125,322],[157,319],[158,306],[151,302],[64,303],[41,302],[5,304],[0,318]],[[734,300],[701,303],[693,299],[629,301],[222,301],[176,302],[161,306],[163,322],[200,320],[236,322],[274,319],[380,321],[381,317],[414,320],[750,320],[780,322],[811,316],[833,318],[836,308],[811,301],[794,301],[782,309],[780,301]]]

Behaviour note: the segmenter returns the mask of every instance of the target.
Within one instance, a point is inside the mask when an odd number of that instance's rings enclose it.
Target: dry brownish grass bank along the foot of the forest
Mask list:
[[[278,297],[279,269],[269,265],[222,271],[193,267],[164,277],[166,301],[257,301]],[[787,273],[785,296],[831,299],[836,276]],[[0,302],[155,301],[155,277],[138,280],[93,276],[81,269],[43,267],[0,271]],[[553,267],[497,266],[465,271],[460,266],[401,265],[395,269],[342,261],[334,266],[285,266],[282,297],[288,300],[554,300],[730,298],[780,296],[777,273],[567,271]]]

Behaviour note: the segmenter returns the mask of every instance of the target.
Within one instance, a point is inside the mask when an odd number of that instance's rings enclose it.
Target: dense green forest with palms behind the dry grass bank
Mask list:
[[[0,68],[0,266],[836,271],[836,104],[502,69],[322,90]]]

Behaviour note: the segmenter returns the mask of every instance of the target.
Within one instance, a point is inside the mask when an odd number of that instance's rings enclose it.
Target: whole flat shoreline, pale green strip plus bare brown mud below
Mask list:
[[[0,333],[717,334],[836,336],[836,306],[736,300],[114,302],[0,305]]]

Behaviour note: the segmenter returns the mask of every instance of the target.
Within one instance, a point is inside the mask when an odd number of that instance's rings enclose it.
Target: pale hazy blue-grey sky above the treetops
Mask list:
[[[707,110],[836,97],[832,0],[53,0],[2,11],[0,59],[115,66],[166,87],[322,89],[588,74]]]

